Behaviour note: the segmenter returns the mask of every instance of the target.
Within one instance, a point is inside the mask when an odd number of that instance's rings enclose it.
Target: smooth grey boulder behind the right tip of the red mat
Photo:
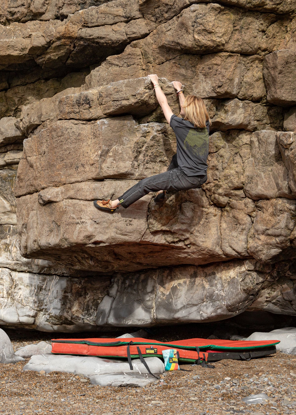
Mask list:
[[[269,333],[255,332],[244,340],[280,340],[277,350],[286,354],[296,354],[296,327],[284,327]]]

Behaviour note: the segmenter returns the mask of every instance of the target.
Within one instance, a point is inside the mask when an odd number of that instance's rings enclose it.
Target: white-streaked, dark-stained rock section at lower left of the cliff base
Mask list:
[[[0,324],[42,331],[95,330],[97,307],[110,285],[109,278],[92,281],[8,268],[0,276]]]

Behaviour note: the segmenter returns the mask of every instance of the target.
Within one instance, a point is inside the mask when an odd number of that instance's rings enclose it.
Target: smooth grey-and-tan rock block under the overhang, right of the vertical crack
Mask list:
[[[257,268],[258,267],[258,268]],[[222,320],[246,310],[264,286],[284,272],[250,261],[183,266],[123,274],[112,279],[97,311],[98,325],[149,326],[171,322]],[[257,269],[256,269],[257,268]],[[236,293],[236,295],[234,295]],[[293,307],[293,305],[292,305]]]

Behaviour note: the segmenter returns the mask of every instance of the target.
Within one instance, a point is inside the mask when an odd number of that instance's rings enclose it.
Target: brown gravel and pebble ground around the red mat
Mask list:
[[[31,334],[30,339],[10,337],[16,350],[40,340],[49,341],[52,334],[34,336]],[[73,334],[61,337],[73,337]],[[83,376],[23,371],[25,363],[0,364],[2,414],[269,415],[296,412],[296,358],[281,353],[251,361],[223,360],[214,363],[215,369],[182,365],[190,372],[166,372],[160,381],[145,388],[92,386]],[[267,393],[269,400],[263,405],[243,402],[243,397],[257,393]]]

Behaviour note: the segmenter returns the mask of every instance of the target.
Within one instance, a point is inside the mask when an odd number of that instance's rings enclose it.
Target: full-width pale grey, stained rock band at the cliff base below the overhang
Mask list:
[[[1,269],[0,323],[75,332],[96,330],[96,323],[134,327],[215,321],[238,310],[296,312],[293,262],[263,266],[237,260],[127,275],[68,278]]]

